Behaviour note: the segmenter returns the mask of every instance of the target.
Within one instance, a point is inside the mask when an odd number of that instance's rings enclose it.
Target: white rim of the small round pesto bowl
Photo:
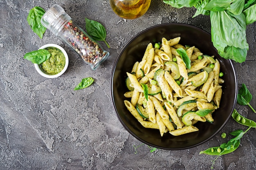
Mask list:
[[[57,44],[45,44],[45,45],[41,46],[39,49],[46,49],[48,47],[54,47],[56,49],[59,49],[64,54],[64,56],[65,56],[65,66],[64,66],[63,70],[60,73],[58,73],[58,74],[49,75],[49,74],[44,73],[41,70],[39,64],[34,64],[34,66],[36,68],[36,71],[40,75],[42,75],[43,77],[46,77],[46,78],[56,78],[56,77],[59,77],[59,76],[63,75],[63,73],[65,73],[65,71],[67,70],[67,67],[68,67],[68,64],[69,64],[69,58],[68,58],[67,52],[61,46],[59,46]]]

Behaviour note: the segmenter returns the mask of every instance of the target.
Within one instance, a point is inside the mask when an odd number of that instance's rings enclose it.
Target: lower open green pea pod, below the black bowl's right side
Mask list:
[[[207,155],[225,155],[231,152],[234,152],[240,145],[240,139],[237,140],[237,142],[234,144],[234,146],[231,146],[229,149],[227,148],[221,148],[220,146],[208,148],[207,150],[201,151],[199,154],[207,154]]]

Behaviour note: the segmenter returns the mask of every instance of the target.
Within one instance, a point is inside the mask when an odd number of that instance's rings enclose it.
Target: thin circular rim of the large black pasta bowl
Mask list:
[[[120,115],[118,114],[118,111],[117,111],[117,108],[115,106],[115,99],[114,99],[114,93],[113,93],[113,78],[114,78],[114,74],[115,74],[115,70],[116,70],[116,67],[117,67],[117,62],[119,61],[119,58],[121,57],[122,53],[124,53],[124,51],[126,50],[126,47],[129,46],[129,44],[132,43],[133,40],[135,40],[137,37],[139,37],[141,34],[149,31],[150,29],[155,29],[156,27],[161,27],[161,26],[165,26],[165,25],[180,25],[180,26],[188,26],[188,27],[191,27],[193,29],[197,29],[199,31],[203,31],[204,33],[208,34],[209,36],[211,36],[210,33],[208,33],[207,31],[204,31],[203,29],[197,27],[197,26],[193,26],[191,24],[185,24],[185,23],[179,23],[179,22],[172,22],[172,23],[163,23],[163,24],[157,24],[155,26],[151,26],[147,29],[144,29],[142,30],[141,32],[139,32],[138,34],[136,34],[134,37],[132,37],[125,45],[124,47],[122,48],[122,50],[119,52],[118,54],[118,57],[116,58],[115,60],[115,63],[114,63],[114,66],[112,68],[112,73],[111,73],[111,77],[110,77],[110,93],[111,93],[111,100],[112,100],[112,106],[114,107],[115,109],[115,113],[117,114],[117,117],[119,119],[119,121],[121,122],[121,124],[124,126],[124,128],[133,136],[135,137],[136,139],[138,139],[139,141],[143,142],[144,144],[147,144],[147,145],[150,145],[150,146],[153,146],[153,147],[156,147],[156,148],[159,148],[159,149],[164,149],[164,150],[184,150],[184,149],[189,149],[189,148],[193,148],[193,147],[196,147],[196,146],[199,146],[207,141],[209,141],[210,139],[212,139],[214,136],[216,136],[218,134],[218,132],[220,132],[220,130],[227,124],[227,121],[229,121],[229,118],[231,117],[231,113],[229,113],[228,115],[228,118],[224,121],[224,123],[220,126],[220,128],[214,132],[209,138],[199,142],[198,144],[194,144],[192,146],[186,146],[186,147],[183,147],[183,148],[166,148],[166,147],[161,147],[161,146],[156,146],[155,144],[151,144],[147,141],[145,141],[144,139],[141,139],[140,137],[138,137],[137,135],[135,135],[134,132],[132,132],[132,130],[130,130],[126,124],[124,123],[124,121],[121,119]],[[235,105],[236,105],[236,101],[237,101],[237,95],[238,95],[238,79],[237,79],[237,75],[236,75],[236,70],[234,68],[234,64],[233,64],[233,61],[230,60],[230,59],[225,59],[225,60],[229,60],[230,62],[230,65],[231,65],[231,68],[232,68],[232,72],[234,73],[234,82],[235,82],[235,98],[234,98],[234,102],[233,102],[233,106],[232,106],[232,111],[234,110],[235,108]]]

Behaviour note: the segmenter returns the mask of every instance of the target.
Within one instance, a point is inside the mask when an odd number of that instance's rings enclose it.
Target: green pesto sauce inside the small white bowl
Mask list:
[[[54,47],[49,47],[46,49],[51,54],[51,57],[40,64],[41,69],[49,75],[56,75],[60,73],[65,66],[65,56],[64,54]]]

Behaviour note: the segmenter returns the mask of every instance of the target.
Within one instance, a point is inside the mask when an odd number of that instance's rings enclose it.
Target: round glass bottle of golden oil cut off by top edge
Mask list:
[[[109,0],[112,10],[121,18],[135,19],[144,15],[151,0]]]

